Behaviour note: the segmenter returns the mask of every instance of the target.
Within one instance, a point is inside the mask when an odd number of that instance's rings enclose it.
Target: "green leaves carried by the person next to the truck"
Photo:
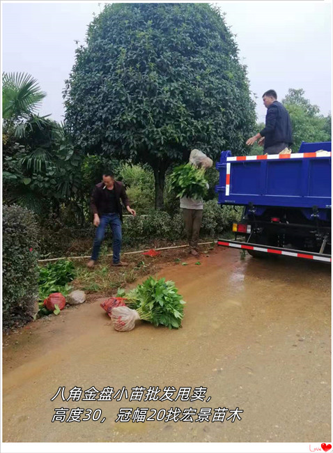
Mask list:
[[[171,190],[176,196],[201,199],[207,193],[205,169],[198,169],[192,164],[179,165],[170,176]]]

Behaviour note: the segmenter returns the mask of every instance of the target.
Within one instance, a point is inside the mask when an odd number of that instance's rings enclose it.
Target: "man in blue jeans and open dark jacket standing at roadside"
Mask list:
[[[93,241],[93,253],[87,264],[88,268],[95,266],[108,225],[111,227],[114,239],[112,266],[127,266],[127,263],[121,261],[121,222],[123,222],[121,201],[130,214],[136,215],[134,209],[130,208],[123,183],[115,181],[111,171],[104,171],[102,183],[95,185],[91,195],[93,224],[97,230]]]

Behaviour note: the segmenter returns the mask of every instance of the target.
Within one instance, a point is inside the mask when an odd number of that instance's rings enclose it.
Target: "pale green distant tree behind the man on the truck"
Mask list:
[[[298,151],[302,141],[331,140],[331,116],[321,115],[319,107],[312,105],[304,98],[304,94],[303,89],[289,89],[288,95],[282,100],[291,116],[294,152]]]

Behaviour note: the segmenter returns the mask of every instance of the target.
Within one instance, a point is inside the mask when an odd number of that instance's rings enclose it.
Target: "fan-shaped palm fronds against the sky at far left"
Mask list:
[[[3,72],[3,132],[13,130],[15,137],[24,137],[26,128],[42,128],[47,116],[36,114],[46,93],[36,79],[24,72]]]

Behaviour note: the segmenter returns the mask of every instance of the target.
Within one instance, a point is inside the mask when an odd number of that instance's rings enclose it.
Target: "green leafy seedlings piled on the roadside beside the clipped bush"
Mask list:
[[[38,305],[40,314],[49,313],[43,306],[44,299],[51,293],[61,293],[66,297],[72,289],[69,282],[72,282],[73,279],[75,279],[75,267],[72,261],[59,260],[39,267]]]

